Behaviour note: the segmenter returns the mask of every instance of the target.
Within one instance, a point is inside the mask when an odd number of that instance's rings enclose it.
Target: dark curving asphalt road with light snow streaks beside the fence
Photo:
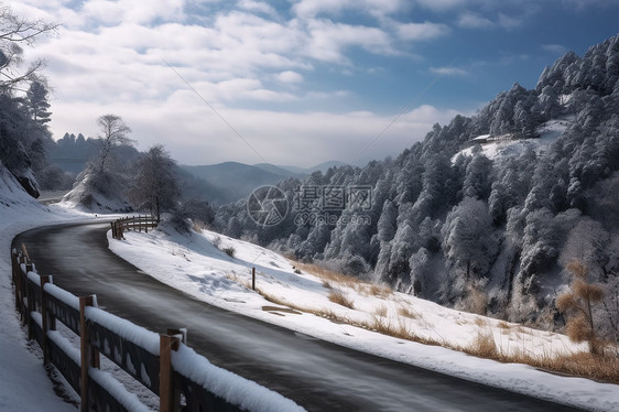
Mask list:
[[[186,327],[188,344],[213,364],[254,380],[308,411],[571,411],[219,310],[141,273],[108,250],[109,224],[30,230],[40,273],[154,332]]]

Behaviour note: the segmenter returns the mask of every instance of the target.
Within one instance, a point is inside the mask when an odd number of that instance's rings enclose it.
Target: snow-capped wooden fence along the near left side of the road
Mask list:
[[[160,411],[303,411],[256,382],[211,365],[186,346],[186,333],[155,334],[97,307],[95,295],[77,297],[36,273],[28,251],[11,251],[15,308],[28,338],[43,350],[82,398],[82,411],[150,411],[111,375],[99,369],[109,358],[160,398]],[[73,346],[56,322],[79,336]],[[184,404],[181,404],[183,395]]]

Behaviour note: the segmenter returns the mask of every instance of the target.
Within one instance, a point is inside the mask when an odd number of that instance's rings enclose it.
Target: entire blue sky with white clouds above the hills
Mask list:
[[[182,164],[397,155],[432,124],[532,88],[618,33],[617,0],[20,0],[62,24],[44,57],[55,139],[121,116]]]

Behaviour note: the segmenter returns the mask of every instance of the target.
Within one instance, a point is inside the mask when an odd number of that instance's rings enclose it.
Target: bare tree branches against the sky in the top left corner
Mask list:
[[[58,26],[43,20],[20,18],[9,7],[0,6],[0,88],[12,89],[44,66],[42,59],[36,59],[25,72],[20,71],[23,47],[32,46],[42,34],[55,32]]]

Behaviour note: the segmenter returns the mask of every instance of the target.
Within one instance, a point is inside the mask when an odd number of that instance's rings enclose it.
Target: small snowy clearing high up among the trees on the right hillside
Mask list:
[[[550,120],[535,130],[536,134],[539,135],[539,138],[535,139],[497,139],[496,141],[492,141],[490,134],[484,134],[473,139],[471,143],[475,144],[476,141],[480,142],[481,153],[488,159],[497,161],[502,161],[508,156],[519,155],[529,148],[533,149],[535,153],[540,154],[540,152],[544,151],[556,139],[558,139],[561,133],[563,133],[573,121],[573,118]],[[452,162],[455,162],[457,156],[460,154],[468,156],[473,155],[474,149],[475,145],[463,149],[452,158]]]

